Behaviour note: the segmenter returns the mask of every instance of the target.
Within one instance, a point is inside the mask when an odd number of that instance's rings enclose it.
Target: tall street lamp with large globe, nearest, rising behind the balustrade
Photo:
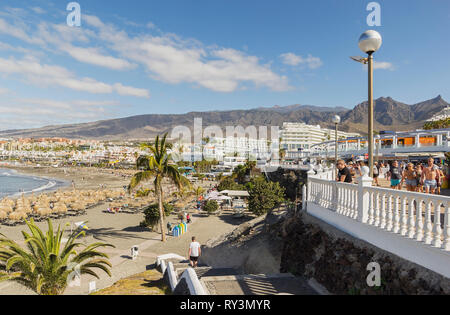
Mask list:
[[[365,31],[359,38],[358,46],[367,58],[351,57],[353,60],[369,65],[369,170],[373,177],[373,53],[380,49],[383,40],[380,33],[374,30]]]

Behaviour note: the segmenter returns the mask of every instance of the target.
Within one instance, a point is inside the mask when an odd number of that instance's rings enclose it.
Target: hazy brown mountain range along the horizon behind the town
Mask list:
[[[381,97],[374,102],[374,128],[377,131],[407,131],[421,128],[425,121],[450,106],[440,95],[413,105]],[[367,133],[368,102],[349,110],[344,107],[312,105],[260,107],[249,110],[190,112],[179,115],[139,115],[82,124],[47,126],[34,129],[0,131],[0,138],[65,137],[70,139],[149,139],[157,134],[171,132],[175,126],[193,128],[194,118],[203,119],[203,128],[210,125],[281,126],[283,122],[304,122],[333,128],[331,119],[340,115],[339,128],[343,131]]]

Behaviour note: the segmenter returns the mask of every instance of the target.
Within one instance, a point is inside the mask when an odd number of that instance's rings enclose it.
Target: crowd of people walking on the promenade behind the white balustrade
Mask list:
[[[364,161],[350,161],[347,164],[344,160],[339,160],[336,180],[352,183],[354,178],[362,175],[364,166]],[[399,163],[397,160],[386,164],[375,162],[373,167],[374,185],[380,186],[380,177],[384,177],[392,189],[401,190],[405,185],[408,191],[439,195],[445,174],[442,165],[436,165],[434,159],[430,157],[425,165],[420,162],[414,164],[402,161]]]

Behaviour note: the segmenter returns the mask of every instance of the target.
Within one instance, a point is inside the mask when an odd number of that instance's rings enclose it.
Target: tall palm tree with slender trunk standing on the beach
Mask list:
[[[155,193],[158,198],[159,215],[160,215],[160,228],[161,228],[161,241],[166,241],[166,234],[164,231],[164,209],[163,209],[163,180],[168,179],[170,182],[176,185],[180,190],[183,186],[190,186],[189,180],[180,174],[176,165],[171,163],[171,155],[168,153],[170,144],[166,142],[167,133],[160,140],[159,136],[156,137],[154,145],[144,145],[150,149],[152,155],[140,156],[136,162],[136,166],[141,171],[134,174],[131,179],[128,190],[131,192],[139,184],[144,181],[153,179],[155,187]]]

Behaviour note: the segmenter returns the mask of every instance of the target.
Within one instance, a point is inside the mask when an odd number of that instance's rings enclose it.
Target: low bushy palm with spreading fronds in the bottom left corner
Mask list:
[[[22,231],[25,248],[0,234],[0,282],[18,282],[39,295],[59,295],[65,291],[72,275],[76,273],[92,275],[99,279],[93,271],[96,268],[111,276],[108,255],[97,249],[114,247],[113,245],[83,245],[77,242],[77,239],[84,235],[84,231],[72,233],[63,245],[65,229],[61,230],[59,226],[54,233],[51,220],[48,220],[46,234],[33,219],[26,223],[31,234]],[[80,247],[84,248],[78,251]]]

